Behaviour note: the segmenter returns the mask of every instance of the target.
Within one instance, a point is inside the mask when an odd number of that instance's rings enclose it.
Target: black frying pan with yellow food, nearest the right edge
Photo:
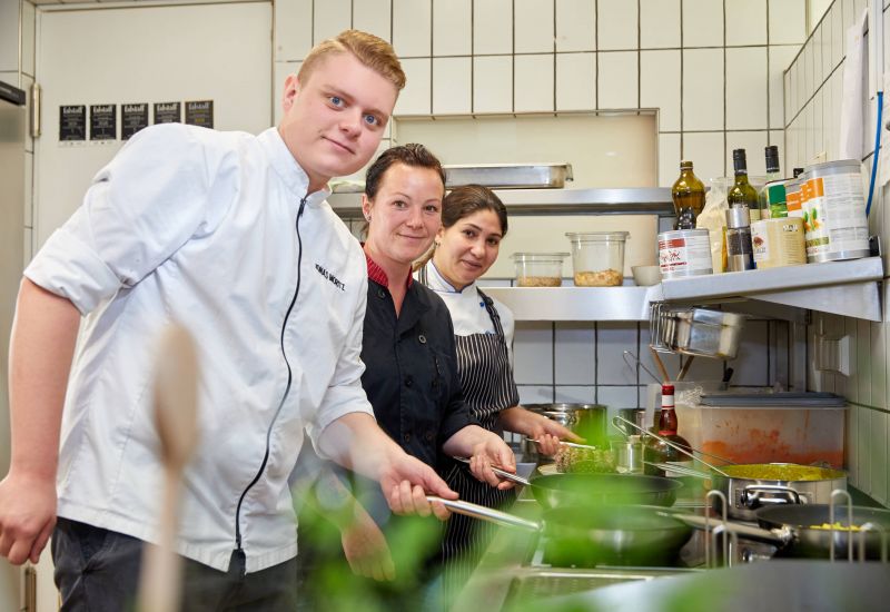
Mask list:
[[[692,514],[660,511],[660,514],[683,521],[698,529],[705,527],[705,519]],[[800,556],[829,559],[831,556],[831,540],[834,539],[834,559],[846,559],[848,555],[848,535],[846,530],[814,529],[814,525],[830,523],[830,506],[828,504],[800,504],[778,505],[762,507],[755,513],[760,527],[733,523],[728,521],[725,526],[711,519],[714,531],[725,530],[740,537],[748,537],[759,542],[768,542],[779,547],[778,556]],[[847,511],[844,506],[835,506],[834,521],[847,525]],[[890,539],[890,511],[872,507],[852,507],[852,524],[862,526],[871,523],[878,531],[852,532],[852,549],[854,556],[860,554],[860,537],[864,535],[866,557],[881,559],[881,532]]]

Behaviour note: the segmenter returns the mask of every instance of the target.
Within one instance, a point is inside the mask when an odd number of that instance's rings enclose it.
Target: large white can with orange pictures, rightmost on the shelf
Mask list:
[[[837,261],[869,255],[869,225],[860,162],[856,159],[810,166],[802,204],[807,259]]]

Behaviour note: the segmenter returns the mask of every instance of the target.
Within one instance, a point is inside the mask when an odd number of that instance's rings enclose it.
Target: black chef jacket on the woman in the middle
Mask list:
[[[452,317],[441,297],[409,282],[396,318],[389,290],[374,280],[375,267],[369,261],[362,386],[380,427],[435,468],[445,441],[477,424],[461,392]]]

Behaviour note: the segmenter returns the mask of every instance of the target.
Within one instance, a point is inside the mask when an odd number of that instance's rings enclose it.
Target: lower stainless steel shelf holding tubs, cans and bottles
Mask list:
[[[880,257],[663,280],[652,287],[487,287],[516,320],[649,320],[651,302],[749,299],[881,320]],[[773,316],[787,318],[788,308]]]

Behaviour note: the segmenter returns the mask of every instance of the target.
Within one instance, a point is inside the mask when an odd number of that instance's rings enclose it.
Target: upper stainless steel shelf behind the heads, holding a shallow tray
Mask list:
[[[516,215],[581,214],[673,216],[671,189],[496,189],[495,194]],[[327,201],[339,215],[359,214],[362,195],[332,194]]]

